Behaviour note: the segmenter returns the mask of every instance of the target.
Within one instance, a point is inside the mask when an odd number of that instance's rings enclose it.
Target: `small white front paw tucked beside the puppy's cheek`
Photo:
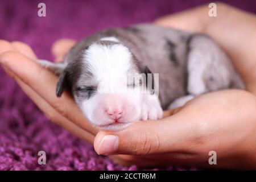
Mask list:
[[[161,119],[163,117],[163,110],[158,98],[143,101],[141,113],[143,121]]]

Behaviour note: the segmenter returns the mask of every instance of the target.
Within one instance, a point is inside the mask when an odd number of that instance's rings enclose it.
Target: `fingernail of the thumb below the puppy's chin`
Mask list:
[[[100,142],[98,154],[109,155],[117,151],[118,137],[117,135],[106,135]]]

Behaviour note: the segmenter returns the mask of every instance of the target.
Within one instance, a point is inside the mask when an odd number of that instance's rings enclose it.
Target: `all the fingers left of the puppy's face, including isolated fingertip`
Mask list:
[[[73,46],[71,40],[60,40],[52,48],[56,61]],[[46,116],[77,137],[93,143],[97,130],[86,121],[73,98],[65,93],[55,96],[57,76],[36,62],[32,49],[21,42],[0,40],[0,64]]]

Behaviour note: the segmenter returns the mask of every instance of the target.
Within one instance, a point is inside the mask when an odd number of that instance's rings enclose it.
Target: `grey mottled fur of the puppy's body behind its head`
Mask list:
[[[159,73],[159,98],[163,109],[187,94],[189,97],[186,98],[193,98],[214,90],[244,88],[242,80],[228,56],[208,36],[159,27],[154,24],[109,28],[91,35],[82,39],[68,52],[63,64],[72,65],[74,61],[79,62],[81,52],[85,51],[92,43],[108,36],[114,36],[130,49],[134,55],[134,64],[137,64],[137,68],[141,69],[141,72],[147,66],[152,73]],[[109,41],[98,43],[113,44]],[[195,65],[195,69],[189,70],[189,61],[199,64],[198,69]],[[198,71],[203,74],[198,77],[198,80],[195,80],[192,76]],[[64,71],[63,74],[71,74],[69,72],[71,71],[66,73]],[[82,70],[81,72],[86,71]],[[59,84],[60,82],[61,77]],[[198,90],[195,82],[203,85],[202,88],[205,89]],[[63,92],[63,89],[60,91]]]

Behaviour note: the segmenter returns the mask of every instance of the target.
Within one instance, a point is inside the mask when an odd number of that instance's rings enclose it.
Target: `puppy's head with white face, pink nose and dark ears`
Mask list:
[[[91,44],[60,75],[56,95],[72,89],[75,101],[92,124],[119,130],[141,119],[144,79],[141,63],[119,42],[100,40]]]

